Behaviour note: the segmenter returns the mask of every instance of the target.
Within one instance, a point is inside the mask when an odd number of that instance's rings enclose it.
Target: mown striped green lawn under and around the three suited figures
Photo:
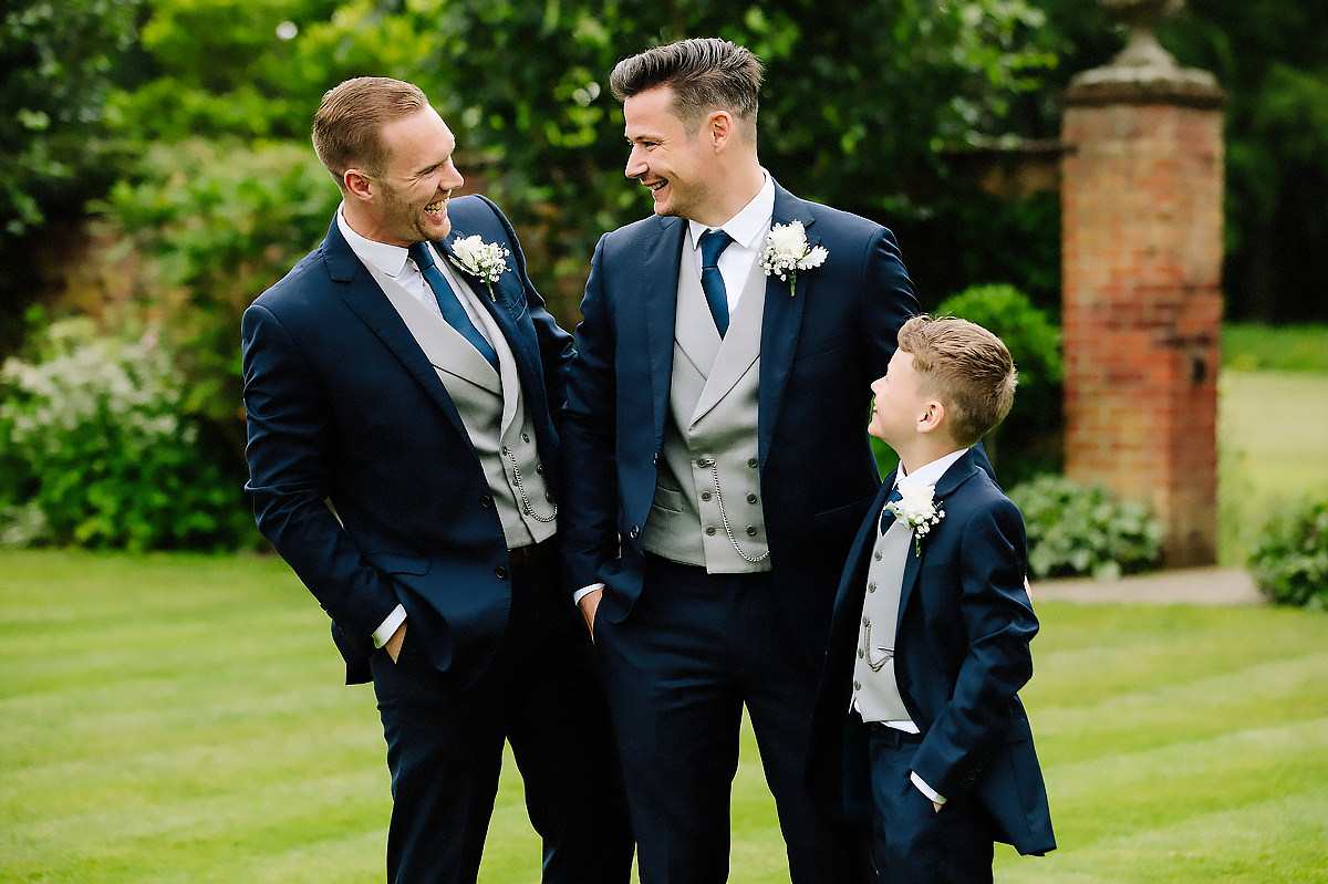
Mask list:
[[[267,557],[0,552],[0,881],[381,880],[373,694]],[[1042,603],[1061,849],[997,881],[1328,881],[1328,617]],[[750,739],[733,881],[788,881]],[[538,881],[521,783],[481,880]]]

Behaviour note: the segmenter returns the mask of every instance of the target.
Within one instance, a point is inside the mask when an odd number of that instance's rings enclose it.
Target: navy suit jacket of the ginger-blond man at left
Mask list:
[[[495,303],[479,301],[511,346],[540,455],[554,461],[571,336],[544,309],[497,206],[462,196],[448,214],[454,236],[511,251]],[[478,677],[511,603],[502,524],[448,390],[336,222],[244,312],[243,350],[246,488],[262,532],[332,617],[347,681],[369,680],[372,633],[398,603],[440,670]]]

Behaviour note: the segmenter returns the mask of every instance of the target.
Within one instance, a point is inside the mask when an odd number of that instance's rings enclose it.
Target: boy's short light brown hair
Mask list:
[[[899,329],[899,349],[914,357],[923,396],[944,404],[956,443],[976,443],[1009,414],[1019,372],[1005,344],[981,325],[914,316]]]

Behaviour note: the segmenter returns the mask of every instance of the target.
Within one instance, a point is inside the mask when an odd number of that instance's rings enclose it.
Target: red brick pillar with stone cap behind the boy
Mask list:
[[[1129,24],[1065,94],[1065,469],[1151,504],[1165,567],[1211,564],[1224,94]]]

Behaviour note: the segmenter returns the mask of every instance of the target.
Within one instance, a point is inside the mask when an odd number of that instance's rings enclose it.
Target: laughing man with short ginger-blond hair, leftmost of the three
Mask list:
[[[590,641],[558,591],[556,415],[572,356],[511,224],[416,86],[327,93],[343,202],[243,319],[259,528],[372,678],[390,884],[473,884],[503,743],[546,884],[627,884],[632,839]]]

